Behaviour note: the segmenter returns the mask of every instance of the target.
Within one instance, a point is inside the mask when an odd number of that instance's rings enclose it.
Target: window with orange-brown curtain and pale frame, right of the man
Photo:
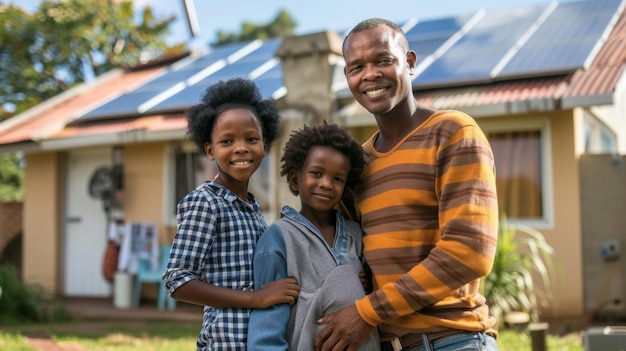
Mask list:
[[[481,125],[496,163],[500,211],[511,223],[547,227],[552,223],[550,148],[547,121],[498,127]]]

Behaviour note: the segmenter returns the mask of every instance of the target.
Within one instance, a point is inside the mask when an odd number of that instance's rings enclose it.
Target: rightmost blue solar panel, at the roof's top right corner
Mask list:
[[[500,77],[568,72],[588,63],[620,0],[559,4],[502,69]]]

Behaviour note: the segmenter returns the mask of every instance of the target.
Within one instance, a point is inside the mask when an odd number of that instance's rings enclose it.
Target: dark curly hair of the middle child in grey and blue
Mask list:
[[[326,121],[317,126],[305,125],[291,133],[280,159],[282,162],[280,175],[288,176],[292,170],[300,171],[309,151],[315,146],[330,146],[346,155],[350,160],[346,189],[353,188],[359,183],[361,172],[365,167],[365,155],[361,144],[347,130],[336,124],[327,124]]]

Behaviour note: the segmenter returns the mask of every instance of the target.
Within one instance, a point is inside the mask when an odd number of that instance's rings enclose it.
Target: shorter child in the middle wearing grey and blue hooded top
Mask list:
[[[346,130],[325,123],[292,133],[284,151],[280,174],[300,196],[301,209],[283,207],[281,218],[259,239],[254,284],[293,276],[300,296],[291,308],[252,311],[248,350],[313,350],[317,320],[365,296],[359,280],[361,228],[335,209],[359,181],[365,166],[361,145]],[[360,350],[379,347],[375,331]]]

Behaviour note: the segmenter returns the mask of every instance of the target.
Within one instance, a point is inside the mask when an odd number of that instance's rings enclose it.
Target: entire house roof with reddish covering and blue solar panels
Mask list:
[[[626,65],[623,9],[622,0],[586,0],[408,20],[403,29],[420,57],[415,96],[475,116],[612,104]],[[279,44],[238,43],[113,71],[0,123],[0,151],[180,139],[184,111],[217,80],[246,76],[264,97],[283,96]],[[353,101],[345,85],[337,89]],[[364,114],[354,102],[338,112],[348,126]]]

